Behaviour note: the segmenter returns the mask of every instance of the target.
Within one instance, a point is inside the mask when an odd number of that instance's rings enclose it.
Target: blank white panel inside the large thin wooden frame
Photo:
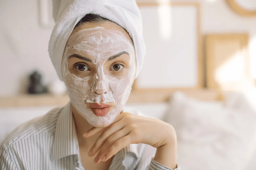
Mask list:
[[[197,86],[196,7],[140,7],[140,10],[143,37],[147,48],[137,86],[139,88]]]

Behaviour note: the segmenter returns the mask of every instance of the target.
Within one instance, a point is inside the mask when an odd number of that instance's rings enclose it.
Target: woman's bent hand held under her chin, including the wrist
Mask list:
[[[93,127],[83,136],[88,138],[101,131],[101,135],[97,138],[88,153],[88,156],[93,156],[95,153],[100,151],[94,159],[95,163],[107,161],[114,154],[119,152],[119,150],[132,143],[145,143],[155,148],[165,148],[165,146],[166,148],[176,148],[176,133],[174,128],[172,125],[159,119],[142,117],[123,112],[118,115],[114,122],[108,127]],[[171,152],[176,154],[176,149]],[[161,153],[158,154],[161,155]],[[160,157],[164,157],[164,155]]]

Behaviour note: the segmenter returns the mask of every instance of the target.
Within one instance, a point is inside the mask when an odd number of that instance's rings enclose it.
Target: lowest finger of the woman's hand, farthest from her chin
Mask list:
[[[108,148],[104,153],[99,155],[98,160],[107,161],[114,154],[118,153],[121,149],[129,146],[132,143],[132,135],[126,135],[119,140],[117,140],[110,148]],[[97,158],[97,157],[96,157]]]

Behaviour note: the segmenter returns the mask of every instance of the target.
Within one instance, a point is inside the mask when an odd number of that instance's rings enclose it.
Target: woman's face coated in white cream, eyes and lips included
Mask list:
[[[135,77],[135,52],[118,24],[85,23],[74,29],[62,60],[62,78],[77,112],[106,127],[123,110]]]

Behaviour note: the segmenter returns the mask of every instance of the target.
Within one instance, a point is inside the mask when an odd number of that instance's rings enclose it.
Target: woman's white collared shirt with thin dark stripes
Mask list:
[[[155,152],[147,144],[130,144],[114,155],[109,170],[170,170],[152,158]],[[0,170],[7,169],[88,169],[80,159],[70,103],[11,132],[0,147]]]

